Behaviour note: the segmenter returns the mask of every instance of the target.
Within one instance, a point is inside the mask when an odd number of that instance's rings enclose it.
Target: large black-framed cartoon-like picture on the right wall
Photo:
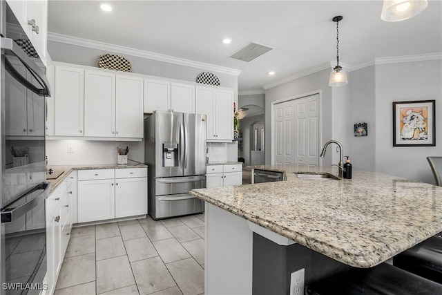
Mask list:
[[[435,146],[435,101],[393,102],[393,146]]]

